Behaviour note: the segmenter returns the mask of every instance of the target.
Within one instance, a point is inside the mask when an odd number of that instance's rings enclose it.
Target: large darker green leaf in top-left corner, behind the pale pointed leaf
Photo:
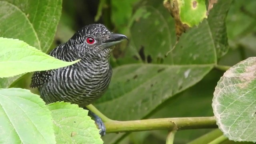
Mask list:
[[[17,38],[47,52],[61,5],[62,0],[0,0],[0,37]],[[18,78],[0,78],[0,87],[9,87]]]

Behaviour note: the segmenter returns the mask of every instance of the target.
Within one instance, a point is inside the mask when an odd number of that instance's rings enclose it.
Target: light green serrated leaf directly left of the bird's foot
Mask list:
[[[88,110],[66,102],[48,104],[47,107],[52,112],[57,144],[103,144]]]

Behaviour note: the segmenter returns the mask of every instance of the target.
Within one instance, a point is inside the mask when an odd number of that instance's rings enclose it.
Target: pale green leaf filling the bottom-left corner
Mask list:
[[[0,143],[54,144],[50,111],[36,94],[0,89]]]

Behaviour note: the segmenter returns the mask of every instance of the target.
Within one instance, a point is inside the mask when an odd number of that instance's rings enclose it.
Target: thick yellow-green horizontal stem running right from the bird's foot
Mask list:
[[[146,130],[185,130],[217,128],[214,116],[189,118],[157,118],[147,120],[116,121],[105,123],[107,133],[136,132]]]

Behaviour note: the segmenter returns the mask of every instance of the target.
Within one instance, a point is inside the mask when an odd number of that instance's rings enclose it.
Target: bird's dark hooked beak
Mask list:
[[[102,46],[107,48],[107,47],[113,46],[115,44],[118,44],[119,42],[122,42],[125,39],[128,40],[127,36],[125,36],[123,34],[112,33],[112,34],[110,34],[109,38],[102,43]]]

